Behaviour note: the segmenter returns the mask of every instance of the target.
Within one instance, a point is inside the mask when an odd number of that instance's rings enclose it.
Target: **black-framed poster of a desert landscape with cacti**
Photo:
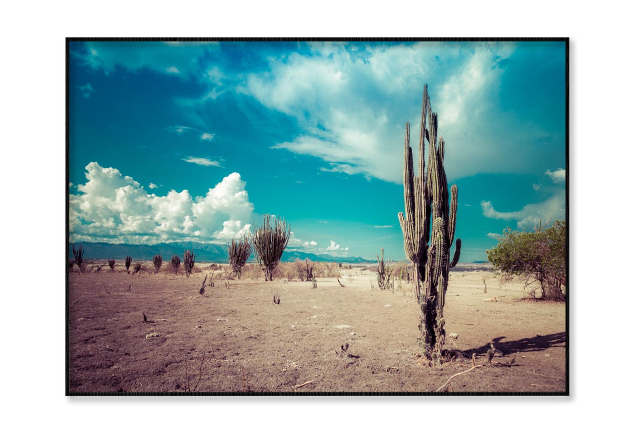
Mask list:
[[[67,395],[569,394],[568,46],[67,39]]]

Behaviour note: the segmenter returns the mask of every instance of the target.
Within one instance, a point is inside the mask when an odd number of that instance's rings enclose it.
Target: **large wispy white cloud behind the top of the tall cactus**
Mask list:
[[[323,159],[323,172],[362,174],[402,181],[404,123],[411,122],[411,144],[417,144],[422,87],[429,83],[439,134],[451,159],[448,177],[479,172],[526,172],[518,146],[506,144],[500,130],[520,120],[500,113],[500,62],[513,44],[420,43],[363,46],[354,43],[311,44],[313,56],[292,53],[269,58],[270,70],[247,75],[239,91],[264,106],[297,120],[302,132],[274,148]],[[451,65],[451,66],[448,66]],[[504,122],[491,118],[506,115]],[[482,125],[488,132],[482,134]],[[522,151],[544,135],[538,126],[522,123],[514,140]],[[520,153],[522,152],[520,151]],[[504,160],[505,163],[496,163]]]

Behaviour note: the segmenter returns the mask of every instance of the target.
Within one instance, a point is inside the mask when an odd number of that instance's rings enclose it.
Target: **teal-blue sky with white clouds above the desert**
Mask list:
[[[462,261],[564,218],[564,42],[71,42],[71,240],[403,259],[404,123],[429,85]],[[415,139],[411,142],[415,144]]]

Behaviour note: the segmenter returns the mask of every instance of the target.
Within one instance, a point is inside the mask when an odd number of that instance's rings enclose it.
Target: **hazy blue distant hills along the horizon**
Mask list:
[[[123,260],[126,256],[133,259],[152,260],[155,254],[161,254],[164,260],[169,260],[172,254],[183,256],[185,250],[191,250],[196,254],[199,262],[226,262],[227,246],[218,244],[201,244],[200,242],[161,242],[159,244],[110,244],[108,242],[82,242],[86,248],[84,259],[118,259]],[[79,242],[75,243],[78,246]],[[68,257],[73,258],[72,244],[68,244]],[[341,258],[330,254],[303,253],[297,250],[287,250],[282,254],[281,261],[292,262],[295,259],[310,259],[314,262],[342,262],[342,263],[371,263],[373,260],[363,259],[359,256]],[[253,254],[249,262],[254,262]]]

